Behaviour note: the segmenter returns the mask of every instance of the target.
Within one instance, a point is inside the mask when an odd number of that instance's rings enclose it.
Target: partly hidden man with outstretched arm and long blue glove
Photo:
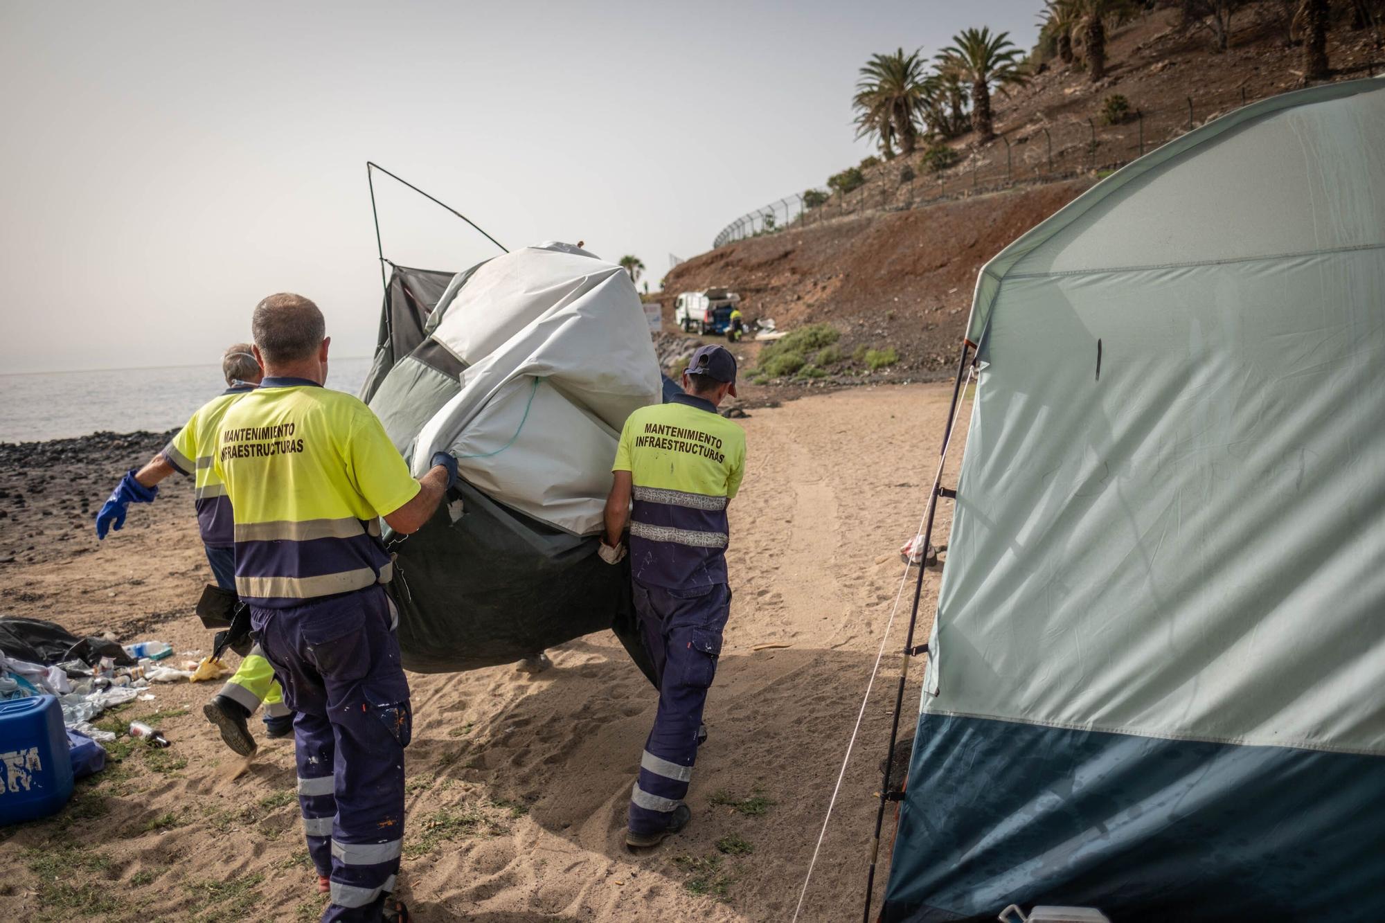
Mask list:
[[[96,517],[96,535],[107,536],[108,529],[125,525],[130,503],[151,503],[158,496],[158,484],[170,474],[191,477],[193,506],[197,525],[212,567],[216,585],[235,590],[235,547],[231,534],[231,506],[226,491],[212,470],[212,450],[217,427],[226,412],[259,385],[262,371],[251,352],[251,345],[237,342],[222,353],[222,374],[226,391],[208,401],[191,416],[177,435],[138,471],[127,471]],[[222,690],[204,705],[208,721],[222,732],[222,740],[242,757],[255,751],[247,721],[265,704],[265,733],[285,737],[294,730],[294,715],[284,704],[284,696],[274,680],[274,668],[263,651],[251,647],[235,674]]]

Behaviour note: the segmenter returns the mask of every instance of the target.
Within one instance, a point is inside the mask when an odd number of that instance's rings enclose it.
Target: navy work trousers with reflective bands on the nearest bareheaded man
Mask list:
[[[291,608],[251,607],[265,657],[296,714],[298,802],[307,851],[331,879],[323,920],[379,920],[404,837],[409,682],[382,586]]]

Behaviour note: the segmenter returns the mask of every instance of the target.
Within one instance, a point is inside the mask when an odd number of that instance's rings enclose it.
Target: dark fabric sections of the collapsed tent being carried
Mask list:
[[[446,385],[460,366],[427,338],[452,277],[396,266],[389,280],[388,322],[361,396],[378,395],[373,407],[396,445],[407,445],[420,419],[456,392]],[[508,664],[609,628],[652,682],[627,561],[605,564],[597,538],[539,522],[467,481],[447,499],[418,532],[389,542],[388,590],[399,608],[404,667],[453,672]]]

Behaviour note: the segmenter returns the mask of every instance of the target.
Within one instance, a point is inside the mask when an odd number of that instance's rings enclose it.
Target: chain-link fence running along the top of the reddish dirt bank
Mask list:
[[[1048,119],[1036,114],[989,144],[951,148],[956,162],[940,169],[929,168],[922,151],[900,154],[863,170],[863,182],[846,191],[813,195],[810,190],[806,200],[795,193],[747,212],[722,229],[712,248],[850,215],[907,211],[1011,186],[1102,175],[1255,98],[1242,86],[1187,96],[1179,107],[1141,109],[1108,94],[1091,115]],[[935,166],[940,162],[932,161]]]

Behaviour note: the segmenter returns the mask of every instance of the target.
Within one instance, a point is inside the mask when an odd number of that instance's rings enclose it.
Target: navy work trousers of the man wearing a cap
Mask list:
[[[669,826],[670,814],[688,793],[731,589],[726,583],[666,589],[634,581],[634,611],[654,661],[659,710],[640,757],[629,825],[634,833],[656,833]]]

